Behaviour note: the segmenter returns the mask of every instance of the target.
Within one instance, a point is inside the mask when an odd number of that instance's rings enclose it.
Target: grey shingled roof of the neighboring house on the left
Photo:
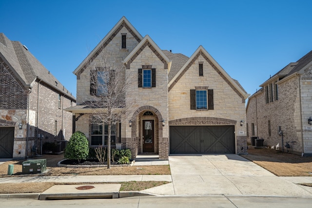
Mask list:
[[[31,84],[39,78],[58,92],[76,100],[25,46],[19,41],[9,40],[3,33],[0,33],[0,56],[24,87],[31,87]]]

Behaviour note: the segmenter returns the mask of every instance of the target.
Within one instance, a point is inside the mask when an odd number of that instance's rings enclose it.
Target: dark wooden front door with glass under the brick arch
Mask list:
[[[154,120],[143,120],[142,142],[143,152],[154,152]]]

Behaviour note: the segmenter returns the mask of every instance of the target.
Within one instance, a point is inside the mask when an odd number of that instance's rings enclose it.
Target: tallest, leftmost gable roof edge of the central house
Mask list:
[[[94,60],[100,52],[106,47],[108,43],[117,35],[117,33],[123,28],[126,27],[129,33],[137,39],[137,42],[140,42],[143,37],[137,32],[136,28],[126,19],[122,17],[117,24],[111,29],[111,31],[98,43],[98,45],[93,49],[93,51],[79,64],[79,66],[73,72],[75,75],[81,74],[87,67],[87,64]]]

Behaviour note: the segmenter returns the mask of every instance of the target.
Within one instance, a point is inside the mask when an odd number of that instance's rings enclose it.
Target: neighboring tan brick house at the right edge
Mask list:
[[[311,155],[312,51],[260,87],[247,103],[248,136],[263,138],[265,146],[284,151],[289,142],[290,151]]]

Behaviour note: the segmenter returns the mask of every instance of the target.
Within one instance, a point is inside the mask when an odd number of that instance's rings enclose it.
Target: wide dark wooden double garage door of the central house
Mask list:
[[[234,126],[171,126],[170,153],[235,153]]]

